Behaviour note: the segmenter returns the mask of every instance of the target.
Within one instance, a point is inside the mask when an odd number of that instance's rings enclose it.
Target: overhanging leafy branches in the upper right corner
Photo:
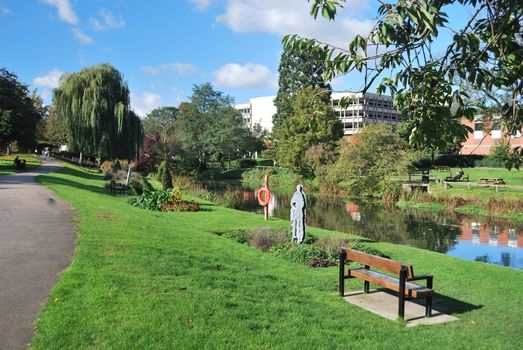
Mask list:
[[[305,0],[304,0],[305,1]],[[345,0],[311,0],[311,14],[334,20]],[[521,0],[397,0],[382,2],[376,25],[356,35],[347,48],[288,36],[284,46],[315,55],[325,64],[325,78],[364,73],[361,91],[381,78],[377,90],[389,91],[394,104],[412,120],[412,144],[430,142],[434,130],[448,127],[456,137],[469,129],[461,117],[475,109],[456,80],[496,94],[510,91],[502,119],[510,132],[521,129],[523,93],[523,7]],[[450,6],[467,14],[456,30],[447,25]],[[450,34],[445,49],[433,43]],[[441,41],[441,40],[440,40]]]

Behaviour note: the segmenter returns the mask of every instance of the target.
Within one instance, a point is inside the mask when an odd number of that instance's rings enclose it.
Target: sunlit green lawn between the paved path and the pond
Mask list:
[[[337,295],[338,270],[310,269],[215,235],[288,222],[204,204],[138,209],[69,166],[39,181],[76,209],[73,264],[37,320],[34,349],[519,349],[523,271],[369,243],[434,274],[435,308],[459,318],[406,328]],[[337,234],[311,229],[318,235]],[[349,289],[354,290],[352,281]],[[361,289],[363,283],[357,283]]]

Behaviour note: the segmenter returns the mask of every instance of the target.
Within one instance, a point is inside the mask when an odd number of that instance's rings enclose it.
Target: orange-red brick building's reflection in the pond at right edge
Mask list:
[[[489,226],[479,222],[462,222],[459,240],[472,241],[476,244],[523,248],[523,233],[518,234],[513,228],[500,229],[498,226]]]

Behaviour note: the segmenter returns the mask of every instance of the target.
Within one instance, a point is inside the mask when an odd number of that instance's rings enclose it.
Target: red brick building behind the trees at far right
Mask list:
[[[501,129],[499,118],[492,120],[476,119],[470,121],[463,119],[462,123],[470,126],[474,131],[469,133],[467,140],[461,145],[461,154],[488,155],[490,150],[498,145],[501,140],[509,140],[512,147],[523,147],[523,137],[518,131],[515,135],[507,135]]]

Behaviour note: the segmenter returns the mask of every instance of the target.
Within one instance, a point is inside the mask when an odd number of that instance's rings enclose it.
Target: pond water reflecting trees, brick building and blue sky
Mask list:
[[[245,211],[263,214],[257,189],[214,183],[213,192],[241,190]],[[272,193],[269,215],[289,220],[292,193]],[[467,260],[523,269],[523,225],[451,213],[385,208],[373,201],[336,195],[307,195],[307,225],[428,249]]]

